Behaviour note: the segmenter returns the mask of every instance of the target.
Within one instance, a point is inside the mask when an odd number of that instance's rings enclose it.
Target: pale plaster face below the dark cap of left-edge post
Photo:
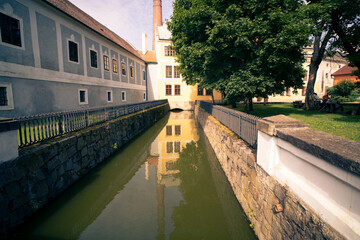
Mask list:
[[[6,162],[19,156],[18,131],[0,132],[0,162]]]

